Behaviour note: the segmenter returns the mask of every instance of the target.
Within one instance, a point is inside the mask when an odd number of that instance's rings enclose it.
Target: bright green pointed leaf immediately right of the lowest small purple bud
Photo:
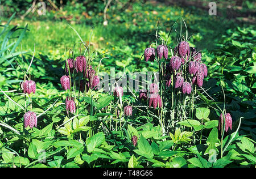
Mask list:
[[[147,159],[152,159],[154,157],[152,148],[150,144],[147,142],[147,139],[141,135],[138,141],[138,148],[139,150],[134,150],[138,155],[142,155],[146,157]]]

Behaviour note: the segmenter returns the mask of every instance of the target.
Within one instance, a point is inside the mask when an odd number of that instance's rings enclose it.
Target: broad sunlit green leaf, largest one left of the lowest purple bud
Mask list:
[[[98,147],[105,141],[105,135],[104,133],[100,132],[97,134],[94,134],[93,137],[90,137],[86,139],[86,147],[87,151],[91,153],[94,148]]]

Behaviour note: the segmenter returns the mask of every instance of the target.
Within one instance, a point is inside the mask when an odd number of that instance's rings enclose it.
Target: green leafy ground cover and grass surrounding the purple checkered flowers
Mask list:
[[[1,19],[1,167],[255,167],[254,25],[193,7],[122,2],[109,7],[106,26],[102,2],[87,5],[92,11],[68,1],[63,10],[48,9],[46,16],[29,14],[22,20],[6,14]],[[186,95],[176,89],[175,75],[183,73],[192,82],[187,68],[193,56],[183,70],[162,70],[176,56],[180,34],[185,41],[193,35],[189,46],[201,50],[208,69],[203,86],[197,80]],[[79,46],[81,39],[85,46]],[[170,47],[168,58],[146,62],[144,50],[156,50],[162,42]],[[110,67],[121,74],[160,72],[162,105],[151,101],[150,108],[150,99],[139,100],[133,90],[123,96],[97,90],[95,75],[67,71],[65,62],[71,62],[66,60],[80,56],[80,49],[96,75],[110,73]],[[64,75],[72,76],[72,83],[60,81]],[[165,75],[171,75],[169,86]],[[35,92],[22,89],[24,79],[35,82]],[[85,80],[89,86],[80,89]],[[75,111],[67,100],[74,101]],[[32,129],[24,126],[28,111],[37,116]],[[219,128],[225,113],[232,116],[228,132]]]

